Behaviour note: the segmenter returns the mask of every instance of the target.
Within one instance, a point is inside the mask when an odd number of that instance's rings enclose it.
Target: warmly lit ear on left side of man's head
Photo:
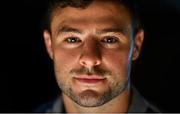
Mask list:
[[[51,59],[53,59],[53,47],[52,47],[52,38],[51,38],[51,35],[50,33],[45,30],[43,32],[43,37],[44,37],[44,42],[45,42],[45,45],[46,45],[46,50],[49,54],[49,57]]]

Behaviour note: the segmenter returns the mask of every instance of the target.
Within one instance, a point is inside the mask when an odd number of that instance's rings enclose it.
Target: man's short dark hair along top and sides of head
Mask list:
[[[56,8],[75,7],[85,9],[95,0],[49,0],[48,9],[43,21],[43,29],[48,30],[51,33],[50,24],[52,21],[52,13]],[[108,0],[107,0],[108,1]],[[133,34],[142,28],[139,17],[139,9],[137,0],[109,0],[122,4],[127,8],[132,20]]]

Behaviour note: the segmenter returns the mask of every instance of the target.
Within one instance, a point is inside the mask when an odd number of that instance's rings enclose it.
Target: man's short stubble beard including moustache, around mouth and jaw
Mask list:
[[[61,76],[63,77],[63,73],[61,72],[56,72],[56,76],[58,74],[61,74]],[[101,76],[105,76],[105,75],[109,75],[110,77],[119,77],[117,76],[113,76],[113,74],[110,71],[104,70],[104,69],[91,69],[87,70],[85,68],[82,69],[75,69],[72,70],[70,72],[70,74],[98,74]],[[57,79],[58,80],[58,79]],[[70,81],[71,79],[69,79]],[[127,76],[127,78],[122,81],[122,82],[116,82],[117,80],[111,80],[111,83],[107,83],[108,84],[108,88],[106,91],[104,92],[98,92],[92,89],[86,89],[84,91],[82,91],[81,93],[77,93],[73,88],[72,85],[69,85],[70,82],[66,82],[66,83],[61,83],[58,82],[59,87],[61,89],[61,91],[68,96],[72,101],[74,101],[76,104],[82,106],[82,107],[98,107],[101,106],[107,102],[109,102],[110,100],[112,100],[113,98],[117,97],[118,95],[120,95],[127,87],[129,84],[129,76]],[[107,80],[108,81],[108,80]]]

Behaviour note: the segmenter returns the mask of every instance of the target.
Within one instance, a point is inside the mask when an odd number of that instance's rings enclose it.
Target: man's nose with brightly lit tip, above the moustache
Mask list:
[[[101,64],[101,51],[98,43],[89,41],[84,44],[79,63],[86,68],[92,68]]]

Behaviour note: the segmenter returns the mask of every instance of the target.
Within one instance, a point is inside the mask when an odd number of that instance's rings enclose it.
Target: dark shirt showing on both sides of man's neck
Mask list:
[[[55,100],[43,104],[35,112],[38,113],[65,113],[65,108],[61,97],[56,98]],[[159,109],[147,102],[140,93],[132,88],[132,97],[128,113],[159,113]]]

